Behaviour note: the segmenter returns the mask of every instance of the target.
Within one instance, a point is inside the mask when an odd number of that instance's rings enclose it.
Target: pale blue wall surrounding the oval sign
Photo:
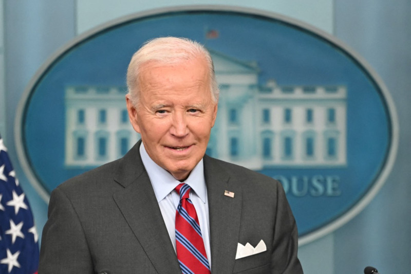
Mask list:
[[[91,26],[130,12],[170,6],[166,1],[8,1],[1,3],[0,133],[41,232],[47,204],[18,162],[16,107],[25,87],[53,52]],[[97,4],[98,3],[98,4]],[[400,140],[396,163],[372,202],[350,222],[300,248],[306,273],[381,273],[411,268],[411,2],[409,0],[174,1],[173,5],[235,5],[291,16],[327,31],[357,51],[387,85],[397,107]],[[1,15],[0,15],[1,16]],[[372,140],[370,140],[372,141]],[[51,171],[52,172],[52,171]]]

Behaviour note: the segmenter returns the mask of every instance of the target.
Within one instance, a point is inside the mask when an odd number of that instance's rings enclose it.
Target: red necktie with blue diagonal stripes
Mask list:
[[[190,189],[190,186],[186,184],[176,187],[180,195],[180,203],[176,211],[177,259],[183,274],[209,274],[210,265],[202,240],[197,212],[189,197]]]

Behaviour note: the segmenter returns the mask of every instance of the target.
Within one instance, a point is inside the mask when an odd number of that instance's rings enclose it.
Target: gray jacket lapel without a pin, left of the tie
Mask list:
[[[181,273],[150,178],[140,158],[140,142],[121,160],[115,180],[124,189],[116,192],[113,198],[157,272]]]

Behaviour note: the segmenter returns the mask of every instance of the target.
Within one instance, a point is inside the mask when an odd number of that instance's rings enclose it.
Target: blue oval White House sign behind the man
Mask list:
[[[48,62],[17,121],[34,184],[49,193],[138,140],[124,113],[126,68],[159,36],[210,49],[221,95],[207,153],[279,179],[301,239],[341,226],[381,187],[396,150],[395,109],[364,61],[275,14],[204,8],[128,17]]]

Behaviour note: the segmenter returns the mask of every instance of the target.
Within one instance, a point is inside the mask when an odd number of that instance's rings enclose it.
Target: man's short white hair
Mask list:
[[[127,89],[133,105],[139,99],[139,75],[141,66],[150,61],[164,65],[176,64],[185,60],[203,57],[209,68],[210,92],[214,102],[218,101],[219,89],[215,79],[214,64],[210,52],[201,44],[187,38],[161,37],[149,40],[137,50],[127,69]]]

